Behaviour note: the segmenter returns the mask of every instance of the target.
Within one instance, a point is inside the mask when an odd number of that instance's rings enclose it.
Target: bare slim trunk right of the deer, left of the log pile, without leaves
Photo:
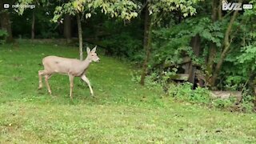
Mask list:
[[[142,66],[142,75],[141,75],[141,85],[144,86],[145,78],[146,78],[146,71],[147,71],[147,63],[150,60],[150,44],[151,44],[151,21],[150,15],[148,10],[148,5],[145,7],[145,20],[144,20],[144,42],[143,48],[146,52],[145,59]]]

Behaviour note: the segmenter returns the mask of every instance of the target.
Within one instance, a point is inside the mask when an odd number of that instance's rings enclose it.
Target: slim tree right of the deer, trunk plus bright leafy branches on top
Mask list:
[[[170,0],[147,0],[144,4],[146,8],[145,15],[145,33],[144,33],[144,50],[146,56],[142,66],[141,84],[144,85],[146,78],[146,70],[148,67],[148,61],[150,59],[151,39],[152,39],[152,27],[162,20],[166,14],[170,14],[173,11],[179,11],[183,17],[188,15],[194,15],[196,13],[193,5],[199,2],[199,0],[193,1],[170,1]]]

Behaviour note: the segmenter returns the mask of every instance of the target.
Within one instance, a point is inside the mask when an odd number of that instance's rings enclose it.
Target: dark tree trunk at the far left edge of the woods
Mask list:
[[[8,34],[6,42],[13,42],[14,39],[11,30],[10,15],[8,11],[0,9],[0,23],[2,30],[6,30]]]

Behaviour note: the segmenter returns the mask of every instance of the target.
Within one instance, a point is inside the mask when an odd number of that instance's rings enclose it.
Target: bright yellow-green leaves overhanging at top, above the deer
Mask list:
[[[101,10],[103,14],[109,14],[112,18],[118,17],[126,20],[138,16],[137,10],[140,8],[139,3],[130,0],[102,1],[102,0],[74,0],[56,6],[54,11],[53,22],[58,22],[62,14],[86,14],[90,18],[95,10]]]

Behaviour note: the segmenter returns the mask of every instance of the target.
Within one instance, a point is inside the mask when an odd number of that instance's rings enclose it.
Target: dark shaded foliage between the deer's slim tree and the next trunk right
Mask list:
[[[104,47],[106,54],[137,64],[142,62],[143,30],[138,29],[142,22],[139,18],[124,23],[119,18],[100,13],[87,22],[84,38],[93,38],[95,44]]]

